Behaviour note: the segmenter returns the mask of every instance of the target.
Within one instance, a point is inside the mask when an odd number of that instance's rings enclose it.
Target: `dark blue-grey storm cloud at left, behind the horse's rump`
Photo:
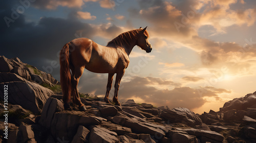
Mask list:
[[[75,38],[92,39],[96,35],[104,36],[107,33],[107,38],[113,38],[121,33],[119,27],[104,24],[94,26],[72,16],[67,19],[41,17],[37,23],[26,22],[24,14],[13,12],[20,5],[13,1],[5,1],[1,5],[1,19],[13,19],[12,15],[18,15],[14,22],[9,23],[9,27],[5,20],[1,20],[1,55],[7,58],[18,57],[23,62],[56,75],[57,79],[59,67],[53,69],[51,62],[58,62],[58,52],[65,43]]]

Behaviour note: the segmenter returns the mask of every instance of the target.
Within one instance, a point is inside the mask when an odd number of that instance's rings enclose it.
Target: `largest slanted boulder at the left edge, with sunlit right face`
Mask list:
[[[4,92],[4,85],[7,85],[9,88],[8,94],[12,95],[8,97],[9,103],[20,105],[35,114],[41,112],[46,100],[53,94],[52,90],[27,81],[16,74],[0,73],[0,77],[0,79],[5,77],[10,80],[1,81],[2,83],[0,83],[0,90],[2,93]],[[14,81],[12,78],[19,79],[19,81]],[[4,100],[4,94],[0,95],[0,99]]]

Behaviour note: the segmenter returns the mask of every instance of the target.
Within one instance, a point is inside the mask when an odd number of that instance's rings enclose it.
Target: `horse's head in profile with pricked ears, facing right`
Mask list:
[[[141,31],[140,31],[140,34],[139,34],[139,37],[138,37],[138,40],[137,40],[137,45],[139,47],[141,47],[141,49],[145,50],[146,53],[150,53],[152,51],[152,46],[150,44],[150,41],[148,41],[149,35],[146,31],[146,28],[147,27],[142,29],[140,27]]]

